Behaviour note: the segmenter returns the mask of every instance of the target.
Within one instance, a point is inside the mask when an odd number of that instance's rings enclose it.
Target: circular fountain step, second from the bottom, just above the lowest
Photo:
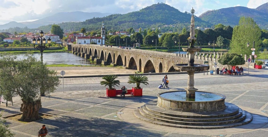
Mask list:
[[[166,122],[166,123],[171,123],[171,124],[181,124],[181,125],[221,125],[221,124],[230,124],[230,123],[236,123],[239,122],[243,119],[245,119],[246,113],[242,112],[242,115],[240,117],[237,117],[235,119],[230,119],[230,120],[223,120],[223,121],[213,121],[213,120],[207,120],[206,122],[191,122],[191,121],[178,121],[178,120],[170,120],[170,119],[164,119],[164,118],[159,118],[155,116],[150,116],[146,114],[142,107],[139,108],[140,114],[142,116],[152,119],[152,120],[157,120],[161,122]]]

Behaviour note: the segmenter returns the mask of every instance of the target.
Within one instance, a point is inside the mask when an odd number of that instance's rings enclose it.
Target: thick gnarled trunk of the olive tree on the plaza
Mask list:
[[[35,102],[26,102],[23,99],[21,99],[23,102],[23,107],[22,107],[22,117],[21,121],[25,122],[31,122],[31,121],[36,121],[39,119],[42,119],[39,116],[39,109],[41,106],[41,100],[37,100]]]

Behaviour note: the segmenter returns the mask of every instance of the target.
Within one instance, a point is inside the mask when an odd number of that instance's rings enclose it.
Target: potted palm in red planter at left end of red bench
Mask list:
[[[114,86],[120,85],[119,80],[115,80],[118,76],[116,75],[107,75],[103,76],[102,79],[104,81],[101,81],[100,84],[104,85],[105,87],[108,86],[109,88],[106,88],[106,96],[109,97],[116,97],[116,89],[113,88]]]

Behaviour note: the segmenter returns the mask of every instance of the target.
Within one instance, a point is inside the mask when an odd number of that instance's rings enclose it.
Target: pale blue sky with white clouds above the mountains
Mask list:
[[[58,12],[101,12],[125,14],[152,4],[166,4],[199,16],[207,10],[244,6],[257,8],[268,0],[0,0],[0,24],[34,21]]]

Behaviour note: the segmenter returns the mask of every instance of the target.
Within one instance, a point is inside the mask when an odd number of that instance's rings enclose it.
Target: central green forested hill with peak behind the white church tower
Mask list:
[[[189,11],[191,8],[189,9]],[[162,27],[163,25],[175,25],[179,27],[188,27],[191,20],[190,13],[182,13],[169,5],[159,3],[148,6],[136,12],[127,14],[113,14],[102,18],[92,18],[83,22],[60,23],[62,29],[78,31],[85,27],[87,31],[98,30],[101,28],[102,21],[105,23],[107,30],[124,30],[133,28]],[[196,17],[196,26],[211,27],[210,23]],[[41,26],[40,30],[48,31],[51,25]]]

